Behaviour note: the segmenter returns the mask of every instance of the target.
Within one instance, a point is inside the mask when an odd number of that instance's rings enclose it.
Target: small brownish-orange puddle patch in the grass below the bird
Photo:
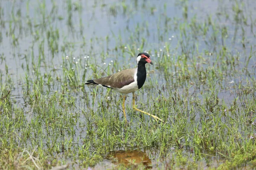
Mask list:
[[[114,164],[122,164],[125,167],[143,164],[146,168],[151,168],[151,159],[148,155],[140,150],[118,150],[109,154]]]

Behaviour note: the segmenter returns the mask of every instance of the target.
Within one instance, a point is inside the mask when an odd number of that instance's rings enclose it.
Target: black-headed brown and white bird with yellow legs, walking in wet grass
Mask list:
[[[149,116],[152,116],[156,121],[160,120],[161,122],[163,122],[163,120],[160,119],[159,117],[154,116],[145,111],[142,111],[136,108],[135,106],[135,91],[139,90],[144,85],[144,82],[146,80],[145,64],[147,63],[150,63],[151,65],[153,65],[153,62],[151,61],[149,54],[140,53],[137,56],[137,68],[122,70],[110,76],[102,77],[99,79],[87,80],[85,85],[100,85],[105,88],[111,88],[123,94],[122,110],[123,110],[126,122],[127,122],[127,119],[125,114],[125,99],[126,99],[126,95],[129,93],[133,94],[132,107],[135,111],[145,113]]]

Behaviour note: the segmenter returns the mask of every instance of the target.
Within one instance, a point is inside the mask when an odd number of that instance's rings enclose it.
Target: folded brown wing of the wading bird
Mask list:
[[[122,88],[134,82],[136,68],[126,69],[112,74],[108,77],[94,79],[97,84],[105,85],[111,88]]]

